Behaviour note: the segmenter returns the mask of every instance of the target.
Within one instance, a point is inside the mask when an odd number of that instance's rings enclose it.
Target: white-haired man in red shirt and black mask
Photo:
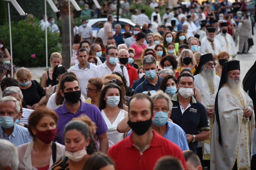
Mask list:
[[[130,64],[128,64],[128,59],[129,59],[128,50],[120,49],[118,51],[118,54],[119,54],[119,57],[118,57],[119,63],[123,64],[126,67],[126,69],[128,71],[128,75],[129,75],[130,87],[132,87],[133,82],[138,79],[137,70],[136,70],[136,68],[131,67]]]

